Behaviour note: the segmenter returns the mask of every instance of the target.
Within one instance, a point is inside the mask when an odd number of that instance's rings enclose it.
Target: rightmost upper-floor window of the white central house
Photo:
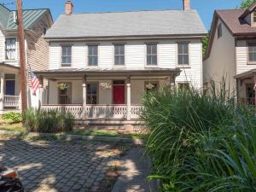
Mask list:
[[[177,44],[177,65],[189,66],[189,43],[180,42]]]

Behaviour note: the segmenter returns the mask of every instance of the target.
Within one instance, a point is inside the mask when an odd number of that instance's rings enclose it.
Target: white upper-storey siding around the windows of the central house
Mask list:
[[[177,67],[177,40],[159,40],[158,42],[158,66],[160,68]],[[185,40],[187,41],[187,40]],[[177,82],[191,81],[196,88],[201,88],[202,82],[202,52],[201,40],[189,40],[190,67],[182,69]],[[113,68],[113,43],[116,42],[96,42],[99,44],[98,59],[101,68]],[[125,43],[125,66],[129,68],[144,68],[146,66],[146,44],[142,40],[130,40]],[[88,46],[86,42],[73,43],[73,63],[74,68],[88,67]],[[90,43],[91,44],[91,43]],[[49,47],[49,69],[56,69],[61,66],[61,43],[50,44]]]

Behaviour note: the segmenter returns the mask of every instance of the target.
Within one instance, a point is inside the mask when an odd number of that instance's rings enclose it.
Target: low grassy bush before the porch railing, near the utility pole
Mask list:
[[[60,113],[56,110],[28,109],[24,113],[24,119],[26,129],[36,132],[72,131],[74,125],[74,117],[71,113]]]

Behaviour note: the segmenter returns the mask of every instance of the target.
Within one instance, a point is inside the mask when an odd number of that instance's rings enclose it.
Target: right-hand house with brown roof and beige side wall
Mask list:
[[[249,9],[216,10],[203,63],[204,86],[224,78],[226,90],[247,104],[255,102],[256,3]]]

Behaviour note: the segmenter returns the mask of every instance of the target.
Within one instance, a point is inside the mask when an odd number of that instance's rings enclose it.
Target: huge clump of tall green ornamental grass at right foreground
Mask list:
[[[228,91],[215,90],[144,96],[149,178],[160,180],[161,191],[256,191],[256,119]]]

